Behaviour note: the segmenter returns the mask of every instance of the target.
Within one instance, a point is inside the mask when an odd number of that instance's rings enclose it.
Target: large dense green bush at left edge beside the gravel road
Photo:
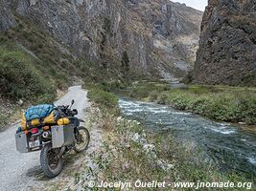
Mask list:
[[[35,69],[36,60],[32,60],[26,53],[0,49],[0,89],[3,96],[14,100],[52,101],[55,89]],[[38,98],[39,97],[39,98]]]

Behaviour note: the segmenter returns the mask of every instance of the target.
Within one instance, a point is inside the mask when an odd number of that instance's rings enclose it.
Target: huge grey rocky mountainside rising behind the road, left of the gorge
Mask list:
[[[18,26],[22,15],[106,73],[120,68],[136,76],[181,77],[195,61],[202,12],[169,0],[1,0],[0,5],[0,31]]]

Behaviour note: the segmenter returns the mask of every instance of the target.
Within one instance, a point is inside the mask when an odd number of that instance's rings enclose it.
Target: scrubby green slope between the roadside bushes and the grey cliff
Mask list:
[[[67,88],[74,76],[86,82],[125,77],[122,60],[88,61],[86,56],[78,56],[67,45],[56,41],[30,18],[15,14],[15,19],[16,27],[0,33],[1,49],[15,52],[12,55],[16,60],[26,57],[26,62],[34,65],[35,70],[49,79],[55,88]]]

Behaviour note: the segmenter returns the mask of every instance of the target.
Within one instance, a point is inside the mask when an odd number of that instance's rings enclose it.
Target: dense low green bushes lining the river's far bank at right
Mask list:
[[[255,96],[235,96],[232,93],[195,95],[184,91],[165,94],[166,100],[162,102],[180,110],[189,110],[217,120],[256,123]]]

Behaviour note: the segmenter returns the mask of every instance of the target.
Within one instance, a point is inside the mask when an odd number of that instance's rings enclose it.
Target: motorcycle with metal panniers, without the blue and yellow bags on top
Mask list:
[[[20,153],[29,153],[41,150],[40,164],[46,177],[54,178],[63,169],[63,155],[70,150],[81,153],[88,148],[90,135],[88,130],[81,126],[83,120],[75,117],[78,115],[76,109],[71,106],[58,106],[59,118],[68,118],[66,125],[52,124],[47,126],[33,127],[25,132],[15,135],[16,148]]]

